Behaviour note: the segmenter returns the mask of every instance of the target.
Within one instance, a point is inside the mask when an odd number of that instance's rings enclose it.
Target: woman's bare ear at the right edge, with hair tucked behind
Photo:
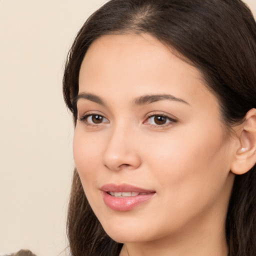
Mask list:
[[[243,174],[256,162],[256,108],[251,108],[247,112],[237,137],[239,145],[231,164],[231,171],[234,174]]]

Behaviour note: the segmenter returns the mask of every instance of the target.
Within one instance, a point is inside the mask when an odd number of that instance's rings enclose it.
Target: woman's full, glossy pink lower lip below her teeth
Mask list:
[[[102,191],[103,200],[106,206],[113,210],[127,211],[131,210],[139,204],[149,200],[155,193],[139,194],[136,196],[126,196],[126,197],[115,197],[109,193]]]

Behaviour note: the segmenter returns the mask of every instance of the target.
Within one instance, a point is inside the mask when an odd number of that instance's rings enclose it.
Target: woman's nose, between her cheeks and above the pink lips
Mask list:
[[[116,127],[109,134],[103,153],[103,164],[111,170],[136,169],[141,164],[135,132]]]

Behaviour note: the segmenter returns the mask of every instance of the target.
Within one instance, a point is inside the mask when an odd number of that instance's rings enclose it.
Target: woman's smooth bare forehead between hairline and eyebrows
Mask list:
[[[79,93],[118,98],[170,93],[185,101],[216,98],[200,71],[149,34],[103,35],[89,47],[79,73]]]

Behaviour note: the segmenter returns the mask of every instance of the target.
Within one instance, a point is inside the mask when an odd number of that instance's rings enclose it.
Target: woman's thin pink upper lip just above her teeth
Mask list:
[[[114,183],[108,183],[100,187],[100,190],[108,192],[138,192],[138,193],[152,193],[155,192],[151,189],[144,189],[141,187],[129,185],[129,184],[114,184]]]

